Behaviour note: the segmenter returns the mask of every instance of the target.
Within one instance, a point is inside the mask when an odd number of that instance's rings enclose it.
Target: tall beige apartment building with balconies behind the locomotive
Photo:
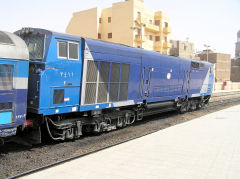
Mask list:
[[[169,16],[144,7],[144,0],[125,0],[112,7],[73,13],[66,33],[169,54]]]

